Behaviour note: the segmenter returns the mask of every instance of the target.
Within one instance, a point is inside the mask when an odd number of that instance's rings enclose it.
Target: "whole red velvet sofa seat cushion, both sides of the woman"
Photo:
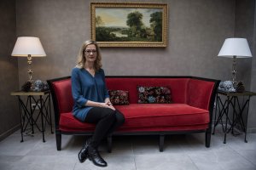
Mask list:
[[[125,116],[120,131],[205,129],[209,122],[208,111],[185,104],[131,104],[116,105],[116,108]],[[94,124],[79,122],[71,112],[61,114],[61,130],[93,131],[94,128]]]

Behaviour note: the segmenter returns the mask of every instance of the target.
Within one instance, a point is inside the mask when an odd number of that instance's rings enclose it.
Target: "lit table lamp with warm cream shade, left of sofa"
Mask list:
[[[32,57],[45,57],[44,48],[38,37],[18,37],[11,54],[16,57],[26,57],[28,64],[28,81],[32,82]]]

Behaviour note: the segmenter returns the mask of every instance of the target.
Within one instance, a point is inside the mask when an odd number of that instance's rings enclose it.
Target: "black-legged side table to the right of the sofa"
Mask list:
[[[234,92],[224,92],[218,90],[216,95],[216,109],[214,116],[214,127],[213,133],[215,133],[215,127],[221,123],[222,129],[224,131],[224,144],[226,143],[227,133],[234,133],[234,127],[239,123],[241,130],[245,133],[244,141],[247,143],[247,119],[244,120],[243,114],[248,118],[249,104],[251,96],[256,95],[256,93],[245,91],[242,93]],[[224,97],[221,99],[221,96]],[[245,101],[241,102],[239,97],[243,97]],[[231,115],[229,115],[229,110],[232,109]],[[218,118],[217,118],[218,115]],[[223,117],[225,116],[225,122],[223,122]],[[230,127],[228,128],[228,123]]]

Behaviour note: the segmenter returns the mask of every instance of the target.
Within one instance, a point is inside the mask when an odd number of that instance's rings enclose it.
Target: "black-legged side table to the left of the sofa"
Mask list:
[[[11,95],[17,96],[19,101],[19,108],[20,108],[20,134],[21,140],[23,142],[23,133],[26,132],[26,128],[28,125],[32,128],[32,133],[34,133],[34,126],[38,128],[43,135],[43,142],[44,139],[44,132],[46,123],[50,126],[50,132],[52,131],[52,122],[51,122],[51,108],[50,108],[50,92],[49,90],[43,92],[11,92]],[[21,98],[25,98],[22,100]],[[33,106],[32,106],[33,104]],[[38,108],[38,110],[37,110]],[[38,115],[35,116],[36,111],[38,111]],[[41,127],[38,125],[38,117],[41,116]]]

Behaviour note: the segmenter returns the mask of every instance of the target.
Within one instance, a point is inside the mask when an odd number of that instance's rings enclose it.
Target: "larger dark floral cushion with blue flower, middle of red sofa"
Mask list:
[[[137,86],[139,104],[170,104],[171,89],[168,87]]]

